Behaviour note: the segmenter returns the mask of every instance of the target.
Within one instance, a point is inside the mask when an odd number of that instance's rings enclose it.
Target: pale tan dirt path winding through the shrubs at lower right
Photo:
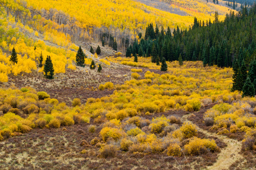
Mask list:
[[[181,121],[191,122],[188,120],[188,117],[191,116],[191,114],[186,114],[185,116],[183,116],[181,118]],[[203,129],[199,128],[198,126],[196,126],[196,127],[197,127],[197,130],[200,131],[201,133],[204,133],[208,136],[217,137],[218,139],[221,139],[223,142],[225,142],[226,145],[228,145],[221,150],[220,154],[218,155],[217,162],[214,163],[212,166],[207,167],[207,169],[216,169],[216,170],[217,169],[228,169],[230,167],[230,165],[232,165],[238,159],[243,158],[242,155],[239,154],[239,152],[241,151],[241,148],[242,148],[241,141],[239,142],[235,139],[230,139],[224,135],[217,135],[215,133],[210,133],[207,130],[203,130]]]

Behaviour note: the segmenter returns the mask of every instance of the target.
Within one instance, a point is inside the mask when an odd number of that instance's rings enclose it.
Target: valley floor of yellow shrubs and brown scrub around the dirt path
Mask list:
[[[0,167],[212,168],[229,140],[238,140],[238,158],[249,163],[232,160],[228,168],[253,164],[256,100],[230,92],[232,69],[175,61],[164,73],[140,59],[147,69],[132,68],[130,80],[104,82],[96,87],[101,96],[73,96],[69,105],[31,87],[2,88]]]

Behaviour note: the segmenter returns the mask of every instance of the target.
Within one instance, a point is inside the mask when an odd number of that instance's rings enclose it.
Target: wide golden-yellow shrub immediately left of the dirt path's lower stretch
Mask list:
[[[184,146],[184,150],[188,155],[199,155],[208,152],[208,150],[212,152],[219,151],[220,148],[218,148],[213,140],[194,137],[187,145]]]

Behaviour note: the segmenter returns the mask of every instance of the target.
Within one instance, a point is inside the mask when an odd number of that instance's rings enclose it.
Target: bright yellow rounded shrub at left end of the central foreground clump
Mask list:
[[[101,129],[100,135],[103,141],[106,142],[108,138],[113,138],[114,140],[117,141],[119,138],[121,138],[124,135],[124,133],[123,131],[116,128],[105,127]]]

